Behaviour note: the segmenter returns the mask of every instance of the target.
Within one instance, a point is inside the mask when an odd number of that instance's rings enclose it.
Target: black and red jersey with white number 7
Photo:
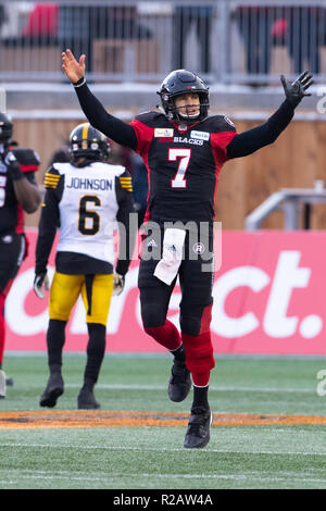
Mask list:
[[[183,127],[152,111],[130,125],[149,176],[146,220],[213,221],[218,174],[236,135],[234,124],[213,115]]]

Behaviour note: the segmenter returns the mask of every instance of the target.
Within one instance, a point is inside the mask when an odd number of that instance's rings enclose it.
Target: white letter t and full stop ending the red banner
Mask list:
[[[293,289],[308,287],[311,275],[310,269],[299,267],[300,257],[296,250],[285,250],[279,254],[263,321],[264,331],[271,337],[290,337],[297,331],[299,317],[287,316],[287,310]],[[300,333],[303,337],[311,337],[312,332],[314,337],[321,327],[318,316],[306,316]]]

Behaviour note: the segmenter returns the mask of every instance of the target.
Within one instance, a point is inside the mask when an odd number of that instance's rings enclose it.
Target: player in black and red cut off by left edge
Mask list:
[[[24,211],[34,213],[40,196],[35,180],[39,158],[32,149],[12,149],[13,124],[0,113],[0,397],[5,397],[2,371],[4,302],[26,254]]]

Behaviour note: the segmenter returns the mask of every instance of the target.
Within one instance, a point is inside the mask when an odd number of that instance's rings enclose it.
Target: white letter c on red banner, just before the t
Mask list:
[[[239,266],[222,275],[213,288],[214,306],[212,312],[212,331],[227,338],[248,335],[260,326],[253,312],[240,317],[230,317],[224,306],[227,296],[237,287],[247,286],[254,292],[261,291],[269,284],[268,275],[255,266]]]

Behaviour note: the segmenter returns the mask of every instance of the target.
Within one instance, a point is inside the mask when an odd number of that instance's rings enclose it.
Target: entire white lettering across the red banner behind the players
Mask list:
[[[233,267],[221,275],[213,287],[214,306],[212,313],[212,333],[224,338],[237,338],[247,336],[258,328],[261,328],[266,336],[274,339],[291,337],[299,334],[304,339],[317,337],[323,331],[323,317],[309,313],[299,317],[288,316],[289,306],[296,289],[306,289],[309,287],[312,270],[299,267],[301,252],[297,250],[284,250],[279,253],[274,276],[262,269],[253,265]],[[138,266],[133,267],[126,276],[124,291],[113,297],[108,320],[108,333],[117,334],[122,322],[128,321],[124,315],[126,308],[128,314],[135,314],[139,328],[141,328],[141,316],[139,308],[139,294],[136,292]],[[49,267],[49,276],[52,278],[53,267]],[[25,270],[14,279],[10,294],[5,302],[5,320],[9,328],[20,336],[34,336],[45,334],[48,327],[48,299],[43,300],[41,313],[33,315],[26,312],[25,302],[28,294],[33,294],[34,269]],[[240,287],[247,287],[251,291],[259,294],[272,282],[264,315],[258,312],[234,310],[229,316],[225,310],[225,304],[231,291]],[[129,292],[134,292],[130,304],[127,299]],[[302,292],[302,291],[301,291]],[[265,296],[265,295],[264,295]],[[303,297],[303,296],[302,296]],[[34,297],[34,300],[37,300]],[[179,302],[180,294],[174,292],[170,302],[168,319],[179,327]],[[243,302],[246,304],[246,302]],[[308,301],[308,306],[310,302]],[[313,304],[313,302],[312,302]],[[312,311],[311,311],[312,312]],[[237,316],[237,314],[239,314]],[[86,313],[83,301],[79,300],[73,311],[70,334],[87,334]]]

